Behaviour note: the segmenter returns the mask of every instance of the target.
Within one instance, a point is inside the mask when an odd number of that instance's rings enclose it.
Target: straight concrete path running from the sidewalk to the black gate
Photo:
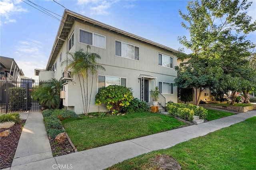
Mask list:
[[[20,113],[27,119],[20,135],[12,166],[52,158],[52,149],[47,137],[41,112]]]

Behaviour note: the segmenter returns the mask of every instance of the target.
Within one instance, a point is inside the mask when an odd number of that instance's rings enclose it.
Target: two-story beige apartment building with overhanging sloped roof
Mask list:
[[[177,75],[174,66],[177,65],[175,54],[178,51],[65,10],[46,70],[35,69],[35,74],[39,80],[67,80],[63,84],[66,109],[82,113],[83,106],[78,77],[61,63],[70,57],[68,53],[79,49],[86,52],[87,45],[91,47],[90,52],[101,56],[98,63],[106,69],[99,70],[95,76],[90,112],[106,110],[105,106],[95,105],[94,97],[99,88],[110,84],[131,87],[133,96],[146,102],[150,102],[150,89],[159,86],[166,103],[170,100],[177,102],[177,87],[173,83]]]

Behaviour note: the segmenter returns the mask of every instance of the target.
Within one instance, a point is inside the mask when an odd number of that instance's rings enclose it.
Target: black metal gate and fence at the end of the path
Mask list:
[[[35,82],[0,81],[0,113],[40,111],[38,101],[31,96],[37,87]]]

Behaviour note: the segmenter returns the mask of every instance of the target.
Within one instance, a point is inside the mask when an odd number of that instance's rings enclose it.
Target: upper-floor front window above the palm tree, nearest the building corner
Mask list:
[[[79,29],[79,43],[84,43],[104,49],[106,46],[106,37]]]

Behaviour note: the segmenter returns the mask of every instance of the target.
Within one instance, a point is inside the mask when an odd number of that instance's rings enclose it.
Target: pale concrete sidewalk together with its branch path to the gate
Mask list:
[[[42,124],[42,115],[40,113],[29,113],[24,127],[24,130],[27,129],[29,131],[22,131],[12,167],[6,169],[102,170],[140,154],[148,153],[152,150],[166,149],[178,143],[206,135],[254,116],[256,116],[256,110],[208,121],[199,125],[182,127],[146,137],[113,143],[103,147],[52,157],[50,154],[50,144],[49,141],[47,141],[46,130]],[[39,134],[36,136],[37,133]]]

